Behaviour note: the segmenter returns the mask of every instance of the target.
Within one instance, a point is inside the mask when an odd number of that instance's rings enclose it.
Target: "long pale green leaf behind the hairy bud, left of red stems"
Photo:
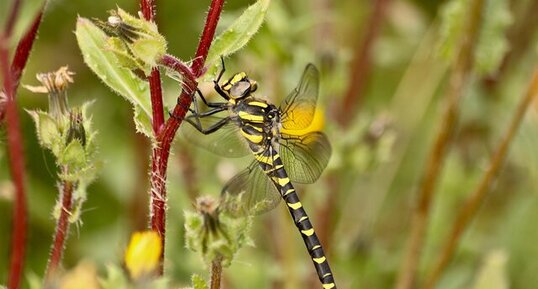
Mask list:
[[[114,52],[107,47],[108,36],[90,20],[82,17],[77,20],[75,35],[86,65],[108,87],[127,99],[135,107],[135,111],[140,113],[139,118],[151,119],[148,83],[124,66],[118,65]],[[142,124],[146,125],[146,122]],[[148,137],[152,135],[151,125],[139,131]]]

